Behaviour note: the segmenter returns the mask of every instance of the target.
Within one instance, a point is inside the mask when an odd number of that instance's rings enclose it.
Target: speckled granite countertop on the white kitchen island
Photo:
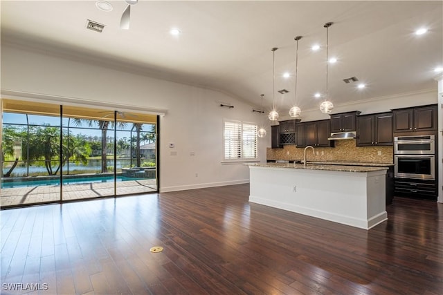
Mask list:
[[[371,171],[381,171],[387,170],[386,166],[350,166],[350,165],[328,165],[328,164],[311,164],[307,163],[306,166],[303,164],[287,164],[287,163],[256,163],[256,164],[246,164],[248,166],[260,166],[260,167],[270,167],[270,168],[291,168],[291,169],[310,169],[310,170],[329,170],[329,171],[343,171],[343,172],[371,172]]]

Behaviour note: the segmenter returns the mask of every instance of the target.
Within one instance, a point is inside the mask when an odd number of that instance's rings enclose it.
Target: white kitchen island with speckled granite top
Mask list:
[[[388,219],[387,168],[249,164],[249,202],[370,229]]]

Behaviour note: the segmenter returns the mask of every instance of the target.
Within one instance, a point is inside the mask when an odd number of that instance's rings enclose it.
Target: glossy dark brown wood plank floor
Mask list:
[[[248,192],[3,210],[1,294],[442,294],[443,204],[395,198],[365,231]]]

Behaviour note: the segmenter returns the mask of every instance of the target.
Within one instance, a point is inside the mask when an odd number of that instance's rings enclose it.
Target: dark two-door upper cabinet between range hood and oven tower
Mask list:
[[[392,146],[392,112],[356,118],[356,146]]]

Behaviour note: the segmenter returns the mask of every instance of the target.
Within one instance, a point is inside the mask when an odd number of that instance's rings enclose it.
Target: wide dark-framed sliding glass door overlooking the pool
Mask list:
[[[155,115],[2,102],[1,207],[157,191]]]

